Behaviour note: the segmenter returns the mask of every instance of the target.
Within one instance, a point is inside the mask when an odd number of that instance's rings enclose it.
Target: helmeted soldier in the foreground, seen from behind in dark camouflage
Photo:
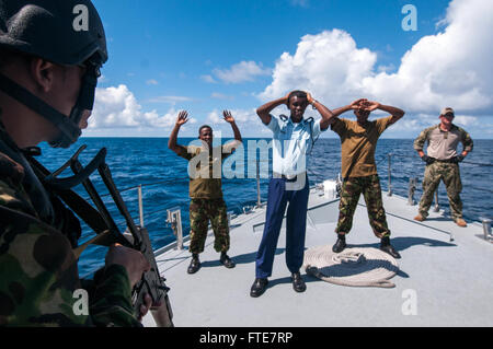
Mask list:
[[[88,31],[73,30],[76,5]],[[130,292],[146,258],[112,246],[80,280],[79,220],[30,162],[39,142],[67,148],[88,126],[107,59],[98,12],[90,0],[0,0],[0,326],[140,326]]]

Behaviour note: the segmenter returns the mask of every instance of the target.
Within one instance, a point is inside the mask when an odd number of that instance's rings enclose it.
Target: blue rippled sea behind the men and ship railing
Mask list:
[[[182,138],[181,144],[187,144],[192,139]],[[270,139],[266,139],[268,142]],[[126,201],[131,216],[138,223],[137,190],[129,187],[142,184],[145,225],[149,231],[153,248],[162,247],[174,241],[174,235],[167,225],[167,209],[181,207],[183,231],[188,234],[188,177],[187,162],[176,156],[168,149],[168,138],[81,138],[70,149],[50,149],[42,147],[43,154],[38,160],[50,171],[61,166],[76,150],[87,144],[87,149],[79,159],[88,164],[96,152],[105,147],[107,149],[106,163],[122,196]],[[244,158],[248,159],[248,139],[244,139]],[[408,185],[411,177],[417,177],[419,184],[414,198],[420,199],[421,181],[424,173],[424,163],[413,150],[412,139],[380,139],[377,146],[376,163],[382,189],[388,187],[388,154],[391,156],[391,183],[393,193],[408,197]],[[474,140],[474,150],[460,165],[462,178],[463,216],[467,221],[478,221],[479,217],[493,218],[493,140]],[[272,151],[270,152],[272,153]],[[271,155],[270,155],[271,156]],[[253,162],[254,163],[254,162]],[[481,164],[490,164],[484,166]],[[341,143],[339,139],[319,139],[309,160],[309,181],[313,185],[328,178],[336,178],[341,172]],[[239,167],[236,167],[238,171]],[[242,212],[242,207],[253,206],[256,202],[256,181],[248,178],[248,164],[244,165],[244,178],[223,178],[222,191],[229,211]],[[241,172],[241,168],[240,168]],[[68,171],[60,177],[68,176]],[[125,230],[123,218],[98,174],[91,176],[103,198],[107,202],[122,231]],[[267,197],[268,178],[261,178],[261,197]],[[82,186],[74,188],[84,198],[89,198]],[[448,199],[444,184],[439,186],[440,208],[449,212]],[[417,210],[417,207],[416,207]],[[94,233],[83,224],[81,243],[94,236]],[[332,239],[328,235],[328,240]],[[79,274],[90,275],[104,265],[106,247],[90,246],[82,254],[79,263]]]

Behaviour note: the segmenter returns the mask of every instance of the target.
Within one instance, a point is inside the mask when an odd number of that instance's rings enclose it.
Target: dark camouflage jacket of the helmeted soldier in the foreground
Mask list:
[[[83,289],[72,253],[79,236],[78,219],[0,124],[0,326],[140,326],[123,266]]]

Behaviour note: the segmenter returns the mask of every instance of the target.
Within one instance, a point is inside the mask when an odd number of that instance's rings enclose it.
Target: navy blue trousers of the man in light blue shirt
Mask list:
[[[308,176],[305,187],[300,190],[286,190],[286,179],[271,178],[264,233],[255,260],[255,276],[257,278],[268,278],[272,275],[274,255],[288,202],[286,214],[286,265],[291,272],[297,272],[301,268],[305,255],[309,193]]]

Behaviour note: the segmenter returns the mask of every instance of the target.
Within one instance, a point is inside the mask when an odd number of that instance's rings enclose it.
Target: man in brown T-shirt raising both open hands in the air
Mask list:
[[[234,268],[234,263],[227,255],[230,247],[227,207],[222,199],[221,172],[216,171],[216,168],[221,168],[222,161],[242,144],[242,139],[231,112],[223,110],[222,115],[225,121],[230,124],[233,130],[234,140],[232,142],[214,148],[213,129],[210,126],[204,125],[198,129],[198,139],[202,141],[202,147],[177,144],[176,139],[180,128],[188,121],[188,113],[185,110],[179,113],[168,142],[169,149],[179,156],[188,160],[190,252],[192,253],[188,274],[195,274],[200,268],[198,255],[204,252],[209,220],[215,235],[214,248],[220,253],[220,263],[227,268]]]

